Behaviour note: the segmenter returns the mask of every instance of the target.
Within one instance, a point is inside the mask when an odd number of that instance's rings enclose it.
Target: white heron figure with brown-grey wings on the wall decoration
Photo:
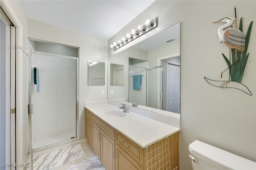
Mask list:
[[[224,43],[230,48],[237,49],[240,52],[244,52],[244,48],[245,48],[244,34],[238,28],[230,27],[234,22],[234,20],[236,20],[236,18],[225,17],[213,23],[226,22],[225,25],[221,26],[218,29],[218,36],[220,38],[220,42]],[[225,28],[227,29],[224,30]]]

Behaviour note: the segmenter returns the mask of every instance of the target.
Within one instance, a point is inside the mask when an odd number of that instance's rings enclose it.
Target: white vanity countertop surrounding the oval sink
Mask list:
[[[127,113],[124,117],[106,116],[104,113],[108,111],[122,111],[122,109],[110,104],[90,105],[86,106],[86,108],[110,126],[122,132],[122,134],[142,148],[146,148],[147,146],[180,131],[179,128],[166,125],[132,112]]]

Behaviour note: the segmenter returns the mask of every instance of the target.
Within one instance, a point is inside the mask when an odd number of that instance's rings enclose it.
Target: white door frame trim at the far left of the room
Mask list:
[[[22,24],[18,19],[18,16],[14,12],[10,2],[6,0],[0,0],[0,5],[2,10],[5,12],[6,16],[10,19],[12,24],[14,24],[16,30],[16,56],[15,56],[15,64],[16,64],[16,94],[15,94],[15,101],[16,101],[16,162],[12,163],[24,163],[23,160],[23,144],[22,144],[22,109],[24,103],[22,102],[22,54],[23,54],[23,45],[22,45]],[[26,161],[26,160],[25,160]]]

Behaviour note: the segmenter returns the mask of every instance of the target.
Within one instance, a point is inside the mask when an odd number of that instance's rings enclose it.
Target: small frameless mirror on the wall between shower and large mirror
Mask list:
[[[105,85],[105,63],[88,61],[88,85]]]

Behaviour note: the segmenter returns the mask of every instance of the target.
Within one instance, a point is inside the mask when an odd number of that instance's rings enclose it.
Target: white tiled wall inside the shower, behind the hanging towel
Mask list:
[[[32,138],[75,131],[76,59],[32,54],[32,65],[40,77],[38,93],[32,77]]]

